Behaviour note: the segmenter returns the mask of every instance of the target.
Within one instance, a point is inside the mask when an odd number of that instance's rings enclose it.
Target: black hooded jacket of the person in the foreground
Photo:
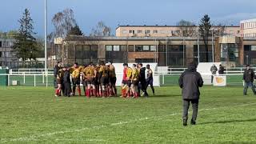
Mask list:
[[[178,83],[182,88],[183,99],[199,99],[199,87],[202,87],[203,81],[201,74],[196,70],[196,66],[189,66],[188,70],[183,72],[178,79]]]

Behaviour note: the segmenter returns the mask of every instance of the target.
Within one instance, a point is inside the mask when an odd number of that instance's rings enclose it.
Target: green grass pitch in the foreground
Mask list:
[[[256,96],[202,88],[196,126],[182,126],[178,86],[150,98],[55,98],[46,87],[0,87],[0,143],[256,143]]]

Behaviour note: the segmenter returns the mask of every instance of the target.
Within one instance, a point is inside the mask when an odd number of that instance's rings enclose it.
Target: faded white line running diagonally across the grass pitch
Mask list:
[[[250,105],[254,105],[254,104],[256,104],[256,102],[242,104],[242,105],[238,105],[238,106],[250,106]],[[198,111],[216,110],[216,109],[221,109],[221,108],[226,108],[226,107],[228,107],[228,106],[222,106],[222,107],[218,107],[218,108],[215,107],[215,108],[208,108],[208,109],[200,109]],[[174,113],[174,114],[167,114],[167,115],[162,115],[162,116],[138,118],[138,119],[134,119],[134,120],[131,120],[131,121],[121,121],[121,122],[110,123],[110,125],[84,127],[82,129],[75,129],[75,130],[55,131],[55,132],[52,132],[52,133],[30,135],[28,137],[21,137],[21,138],[10,138],[10,139],[4,138],[4,139],[0,139],[0,143],[36,141],[36,140],[38,140],[38,138],[50,137],[50,136],[56,135],[56,134],[65,134],[65,133],[73,133],[73,132],[79,132],[79,131],[85,131],[85,130],[101,129],[101,128],[104,128],[104,127],[107,127],[107,126],[120,126],[120,125],[124,125],[124,124],[127,124],[127,123],[140,122],[140,121],[145,121],[145,120],[148,120],[148,119],[161,119],[161,118],[165,118],[165,117],[168,117],[168,116],[174,116],[174,115],[179,115],[179,114],[182,114],[182,113]]]

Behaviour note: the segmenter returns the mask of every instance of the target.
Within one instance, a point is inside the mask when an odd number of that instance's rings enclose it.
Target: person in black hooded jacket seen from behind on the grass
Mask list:
[[[187,126],[190,102],[192,103],[193,108],[191,125],[195,125],[198,116],[198,102],[200,96],[199,87],[202,87],[203,85],[201,74],[197,72],[197,65],[194,63],[190,63],[190,65],[188,66],[188,70],[183,72],[178,79],[178,83],[179,86],[182,88],[183,126]]]

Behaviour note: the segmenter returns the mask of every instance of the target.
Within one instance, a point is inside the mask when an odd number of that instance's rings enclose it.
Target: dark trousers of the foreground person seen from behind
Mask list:
[[[198,99],[183,99],[183,119],[188,119],[188,111],[190,108],[190,102],[192,104],[193,114],[192,114],[192,121],[196,121],[198,117]]]

